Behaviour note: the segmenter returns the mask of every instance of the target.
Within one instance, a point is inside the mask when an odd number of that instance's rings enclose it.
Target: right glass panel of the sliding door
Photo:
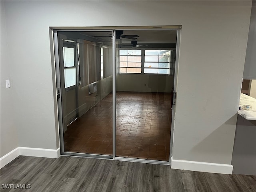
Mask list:
[[[116,30],[116,157],[169,161],[176,37]]]

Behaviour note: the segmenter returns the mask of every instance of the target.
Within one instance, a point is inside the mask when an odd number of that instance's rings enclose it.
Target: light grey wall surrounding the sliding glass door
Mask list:
[[[56,149],[59,140],[49,26],[182,25],[173,158],[231,163],[250,1],[5,4],[20,146]]]

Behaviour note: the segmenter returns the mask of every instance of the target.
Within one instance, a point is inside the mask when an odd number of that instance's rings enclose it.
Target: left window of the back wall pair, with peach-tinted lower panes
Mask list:
[[[141,73],[141,50],[119,50],[119,72]]]

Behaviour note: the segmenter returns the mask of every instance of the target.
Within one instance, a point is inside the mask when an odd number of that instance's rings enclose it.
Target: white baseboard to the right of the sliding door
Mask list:
[[[233,172],[233,166],[229,164],[175,160],[173,158],[171,158],[171,168],[220,174],[232,174]]]

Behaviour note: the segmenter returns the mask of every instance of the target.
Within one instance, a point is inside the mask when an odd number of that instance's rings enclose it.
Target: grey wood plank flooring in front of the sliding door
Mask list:
[[[3,189],[2,184],[30,184]],[[19,156],[1,169],[1,192],[255,192],[256,176],[174,170],[170,166],[60,156]]]

